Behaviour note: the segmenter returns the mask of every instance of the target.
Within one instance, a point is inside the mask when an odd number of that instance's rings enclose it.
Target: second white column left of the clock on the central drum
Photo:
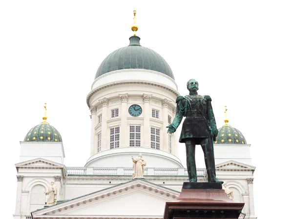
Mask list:
[[[108,143],[108,129],[107,129],[107,121],[108,121],[108,105],[109,105],[109,100],[107,98],[104,98],[100,101],[102,104],[102,125],[101,125],[101,151],[109,149]]]

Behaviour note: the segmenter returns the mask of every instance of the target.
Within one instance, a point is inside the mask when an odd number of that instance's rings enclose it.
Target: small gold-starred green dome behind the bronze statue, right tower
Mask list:
[[[219,133],[214,144],[246,144],[243,134],[238,129],[233,128],[230,125],[225,125],[222,128],[219,128],[218,131]]]

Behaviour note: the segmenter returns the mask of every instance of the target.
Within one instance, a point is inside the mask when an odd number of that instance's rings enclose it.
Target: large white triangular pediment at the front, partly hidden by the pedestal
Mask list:
[[[166,201],[180,192],[136,179],[32,212],[42,218],[163,218]],[[151,209],[151,210],[150,210]]]

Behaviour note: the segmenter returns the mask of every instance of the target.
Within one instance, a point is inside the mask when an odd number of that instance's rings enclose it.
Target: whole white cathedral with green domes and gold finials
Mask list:
[[[14,219],[162,219],[166,201],[175,201],[188,182],[178,158],[179,131],[166,128],[176,113],[180,75],[141,45],[135,12],[131,29],[129,45],[105,57],[86,96],[91,144],[84,166],[64,165],[62,133],[46,113],[24,133]],[[217,178],[230,199],[245,203],[245,219],[256,219],[251,145],[227,116],[220,126]],[[197,176],[208,181],[205,168]]]

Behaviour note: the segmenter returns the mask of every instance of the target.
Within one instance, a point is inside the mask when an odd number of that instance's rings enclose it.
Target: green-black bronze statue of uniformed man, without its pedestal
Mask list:
[[[185,143],[186,146],[189,182],[197,182],[195,145],[201,145],[205,154],[209,182],[223,183],[216,178],[215,171],[213,139],[217,136],[218,129],[210,103],[211,98],[208,95],[197,94],[198,82],[194,79],[187,82],[187,89],[189,95],[178,96],[176,99],[176,115],[173,122],[167,126],[167,132],[175,132],[185,116],[179,142]]]

